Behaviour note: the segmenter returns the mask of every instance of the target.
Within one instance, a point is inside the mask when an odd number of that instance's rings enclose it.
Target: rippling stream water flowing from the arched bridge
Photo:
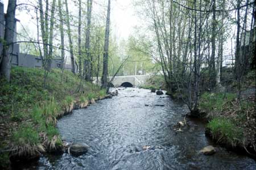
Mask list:
[[[205,137],[204,123],[187,119],[188,128],[174,131],[187,112],[168,96],[145,89],[119,89],[117,97],[75,110],[57,123],[67,142],[90,146],[86,154],[42,157],[33,168],[255,169],[253,159],[218,146],[212,156],[199,154],[201,148],[213,144]],[[150,149],[143,150],[143,146]]]

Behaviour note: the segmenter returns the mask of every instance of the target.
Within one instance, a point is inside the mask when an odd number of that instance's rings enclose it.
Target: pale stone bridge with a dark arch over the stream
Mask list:
[[[108,77],[109,80],[112,77]],[[144,85],[147,79],[150,78],[150,75],[133,75],[133,76],[115,76],[112,81],[111,86],[125,86],[125,87],[133,87]],[[93,83],[96,84],[97,77],[93,77]],[[101,77],[99,77],[99,83],[101,82]]]

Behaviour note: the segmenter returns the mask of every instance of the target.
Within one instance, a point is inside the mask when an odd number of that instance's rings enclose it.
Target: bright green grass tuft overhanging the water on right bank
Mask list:
[[[214,140],[236,146],[243,140],[242,129],[227,118],[213,118],[207,125]]]

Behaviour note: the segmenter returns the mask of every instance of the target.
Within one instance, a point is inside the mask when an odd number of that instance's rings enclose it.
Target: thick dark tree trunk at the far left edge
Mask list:
[[[0,67],[0,75],[10,81],[11,73],[11,53],[13,52],[14,28],[15,28],[16,0],[9,1],[5,20],[5,42],[7,46],[3,48],[3,59]]]

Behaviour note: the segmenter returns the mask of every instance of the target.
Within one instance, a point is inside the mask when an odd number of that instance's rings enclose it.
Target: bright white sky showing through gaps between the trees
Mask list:
[[[8,0],[0,0],[3,2],[5,6],[5,13],[7,10]],[[31,0],[33,1],[33,0]],[[35,1],[35,0],[34,0]],[[37,2],[37,1],[36,1]],[[51,1],[50,1],[51,2]],[[86,0],[82,0],[82,2],[86,2]],[[105,12],[107,5],[107,0],[94,0],[94,12],[101,8],[101,13]],[[17,3],[28,3],[27,0],[18,0]],[[77,9],[73,5],[73,1],[68,0],[70,13],[76,15]],[[98,7],[97,7],[98,6]],[[100,6],[100,7],[99,7]],[[103,6],[103,7],[102,7]],[[84,6],[85,9],[85,6]],[[36,26],[35,24],[31,24],[32,22],[36,22],[35,19],[31,19],[31,15],[27,14],[26,10],[17,11],[16,18],[20,20],[20,23],[29,28],[30,34],[34,34],[36,36]],[[106,16],[106,14],[103,14]],[[133,0],[112,0],[112,11],[110,13],[110,22],[112,24],[112,34],[117,37],[117,40],[127,39],[129,35],[133,32],[133,28],[139,23],[137,16],[135,16],[135,11],[133,8]],[[17,24],[17,30],[21,29],[20,24]]]

